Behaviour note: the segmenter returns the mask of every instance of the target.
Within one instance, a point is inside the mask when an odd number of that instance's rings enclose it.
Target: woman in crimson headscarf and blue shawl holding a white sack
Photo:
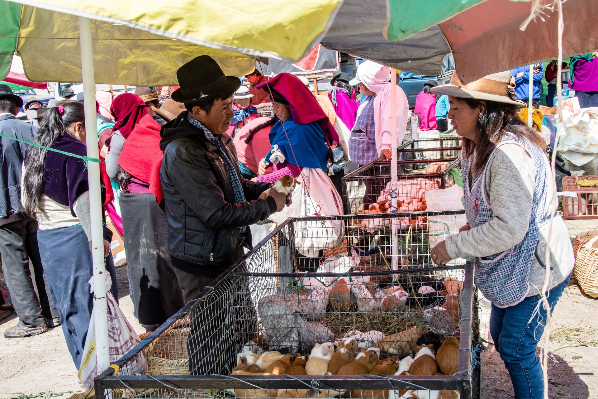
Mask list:
[[[332,163],[331,147],[338,143],[338,134],[312,92],[294,75],[283,73],[258,84],[269,93],[277,121],[270,130],[270,152],[261,160],[257,180],[276,182],[285,175],[297,179],[292,205],[270,216],[276,224],[289,217],[312,215],[340,215],[343,203],[328,176]],[[274,172],[264,169],[274,166]],[[338,245],[342,228],[334,222],[325,226],[306,222],[305,229],[297,229],[295,245],[286,237],[279,242],[279,251],[294,251],[297,268],[312,270],[319,266],[324,250]],[[301,230],[300,232],[298,230]],[[307,230],[307,236],[302,236]],[[324,233],[324,236],[319,236]],[[279,252],[280,253],[280,252]],[[284,255],[283,255],[284,256]],[[288,270],[290,271],[290,270]]]

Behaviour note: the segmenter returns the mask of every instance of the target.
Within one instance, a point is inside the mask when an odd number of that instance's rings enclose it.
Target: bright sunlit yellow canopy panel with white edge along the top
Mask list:
[[[294,62],[324,36],[340,0],[35,0],[47,10],[206,47]],[[54,24],[57,26],[57,24]]]

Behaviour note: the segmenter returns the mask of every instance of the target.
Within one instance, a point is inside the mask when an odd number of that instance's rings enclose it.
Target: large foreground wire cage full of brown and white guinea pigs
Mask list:
[[[98,376],[96,397],[478,397],[472,266],[429,257],[462,221],[289,219]]]

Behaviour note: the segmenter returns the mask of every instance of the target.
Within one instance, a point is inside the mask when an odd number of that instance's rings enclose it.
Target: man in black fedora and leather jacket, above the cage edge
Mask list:
[[[224,134],[239,78],[225,76],[209,56],[181,66],[176,76],[180,89],[172,99],[187,111],[160,131],[160,179],[170,259],[189,301],[242,256],[242,246],[251,249],[247,226],[281,211],[288,200],[276,190],[258,198],[270,185],[241,176],[233,141]]]

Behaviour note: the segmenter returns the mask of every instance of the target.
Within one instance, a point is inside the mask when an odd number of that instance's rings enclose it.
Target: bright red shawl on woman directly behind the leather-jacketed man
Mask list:
[[[160,183],[160,165],[163,153],[160,150],[160,124],[145,115],[131,135],[124,142],[118,157],[118,165],[126,172],[149,184],[149,191],[158,203],[164,198]]]

